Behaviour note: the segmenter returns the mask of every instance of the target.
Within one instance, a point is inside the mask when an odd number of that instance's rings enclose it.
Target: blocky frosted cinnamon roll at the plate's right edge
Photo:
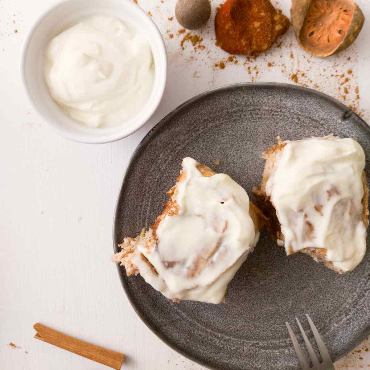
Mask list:
[[[307,253],[339,273],[353,270],[366,251],[369,189],[365,154],[350,138],[329,135],[277,139],[266,160],[256,204],[287,255]]]

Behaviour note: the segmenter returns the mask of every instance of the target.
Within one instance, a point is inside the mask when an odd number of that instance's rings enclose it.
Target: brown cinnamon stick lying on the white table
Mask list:
[[[56,330],[40,323],[34,324],[33,328],[37,332],[34,336],[36,339],[53,344],[54,346],[63,348],[87,359],[99,362],[103,365],[111,367],[112,369],[121,369],[122,361],[125,358],[125,355],[122,353],[83,342],[82,340],[78,340],[70,337],[69,335],[57,332]]]

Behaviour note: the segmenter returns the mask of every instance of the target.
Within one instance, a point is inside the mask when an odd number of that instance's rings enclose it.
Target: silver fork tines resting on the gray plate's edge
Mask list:
[[[307,320],[310,324],[313,336],[315,337],[317,347],[319,347],[322,362],[319,362],[319,360],[317,360],[316,354],[313,351],[311,343],[308,340],[307,335],[306,335],[305,331],[302,328],[302,325],[300,324],[299,320],[296,317],[299,329],[302,333],[303,339],[305,340],[306,347],[307,347],[308,353],[309,353],[309,355],[311,357],[311,361],[312,361],[312,367],[310,367],[309,364],[307,363],[307,360],[305,359],[305,356],[303,356],[302,350],[299,347],[299,344],[297,342],[297,338],[294,335],[292,328],[290,327],[289,323],[286,322],[286,327],[288,328],[290,338],[292,339],[293,347],[296,351],[301,369],[302,370],[334,370],[333,361],[330,358],[329,352],[327,351],[327,349],[325,347],[325,344],[324,344],[323,340],[321,339],[319,332],[316,329],[316,326],[314,326],[314,324],[311,320],[311,317],[308,316],[307,313],[306,313],[306,316],[307,316]]]

